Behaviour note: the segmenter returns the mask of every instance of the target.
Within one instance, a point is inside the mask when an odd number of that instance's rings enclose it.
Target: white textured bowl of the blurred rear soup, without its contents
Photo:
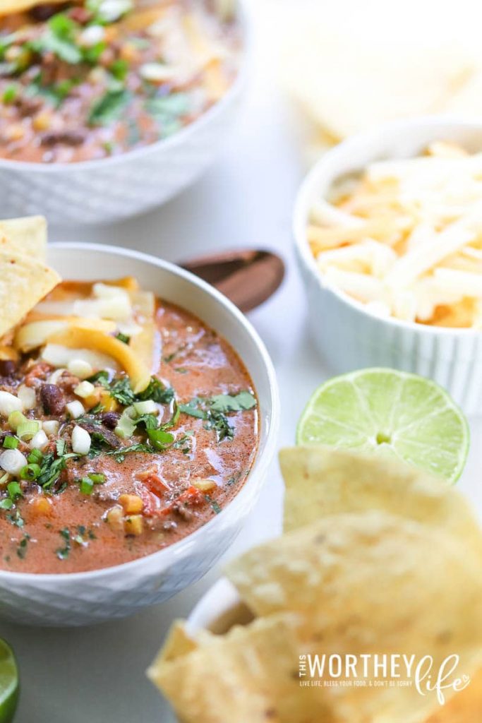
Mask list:
[[[215,161],[238,113],[251,56],[246,0],[237,0],[243,51],[236,81],[197,121],[172,137],[85,163],[0,158],[0,217],[42,214],[50,223],[112,223],[168,201]]]

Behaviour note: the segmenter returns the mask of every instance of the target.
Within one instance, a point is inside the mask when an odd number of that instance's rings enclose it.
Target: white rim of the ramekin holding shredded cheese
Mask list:
[[[374,321],[384,324],[387,327],[395,326],[409,329],[413,333],[478,338],[482,334],[482,331],[477,329],[431,326],[429,324],[420,324],[418,322],[403,321],[401,319],[395,319],[395,317],[378,316],[370,312],[369,309],[366,309],[366,305],[362,304],[361,301],[352,299],[351,296],[348,296],[345,292],[335,288],[335,286],[325,286],[323,283],[324,275],[317,267],[317,263],[311,253],[308,239],[306,237],[306,223],[308,221],[311,200],[314,198],[317,181],[319,176],[322,175],[325,163],[329,162],[332,158],[336,158],[337,155],[344,155],[346,152],[349,152],[352,147],[359,147],[365,142],[371,142],[371,140],[376,139],[376,137],[379,137],[382,134],[400,134],[405,130],[410,132],[412,129],[423,127],[433,127],[435,133],[437,129],[439,129],[439,132],[443,132],[444,128],[453,128],[455,126],[459,126],[460,129],[465,128],[478,130],[481,133],[482,142],[482,121],[444,114],[437,116],[420,116],[418,118],[390,121],[389,123],[380,124],[379,126],[349,137],[328,150],[326,153],[323,153],[322,157],[319,158],[314,167],[311,168],[311,171],[309,171],[309,174],[305,177],[298,190],[298,194],[296,195],[293,213],[293,235],[296,249],[298,251],[298,257],[316,281],[317,286],[322,288],[322,291],[330,291],[334,296],[337,296],[337,298],[342,301],[345,306],[351,307],[358,312],[358,314],[370,317]],[[335,174],[333,174],[333,176],[335,176]]]

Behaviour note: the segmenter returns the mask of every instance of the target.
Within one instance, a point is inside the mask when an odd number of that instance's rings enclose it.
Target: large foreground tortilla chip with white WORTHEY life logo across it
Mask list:
[[[331,515],[227,573],[256,615],[301,615],[307,651],[429,654],[436,670],[455,653],[460,675],[481,667],[482,563],[445,531],[378,511]],[[316,690],[337,723],[419,723],[439,707],[415,686]]]

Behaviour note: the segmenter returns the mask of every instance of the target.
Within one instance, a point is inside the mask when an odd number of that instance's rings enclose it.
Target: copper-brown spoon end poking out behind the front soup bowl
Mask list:
[[[263,304],[280,287],[285,264],[277,254],[233,249],[181,263],[182,268],[218,288],[242,312]]]

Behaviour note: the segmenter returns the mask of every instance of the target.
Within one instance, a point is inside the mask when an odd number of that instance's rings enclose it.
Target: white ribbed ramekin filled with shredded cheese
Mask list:
[[[481,414],[481,151],[480,123],[400,121],[343,142],[304,181],[296,250],[311,331],[335,371],[415,372]]]

